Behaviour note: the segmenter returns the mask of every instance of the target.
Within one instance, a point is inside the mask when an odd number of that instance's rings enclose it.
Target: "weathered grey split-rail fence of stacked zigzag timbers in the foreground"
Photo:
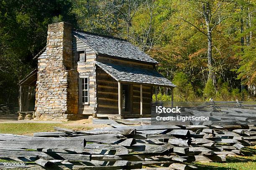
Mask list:
[[[219,111],[213,110],[220,114],[223,108]],[[148,125],[148,119],[95,119],[110,127],[87,131],[55,127],[56,132],[38,132],[33,137],[0,134],[0,158],[37,164],[28,169],[118,170],[142,165],[161,166],[156,170],[196,169],[183,162],[225,162],[226,156],[243,155],[244,147],[256,144],[256,127],[244,123],[254,122],[254,110],[244,109],[245,115],[238,111],[243,109],[228,109],[235,117],[246,118],[240,120],[242,124],[154,126]]]

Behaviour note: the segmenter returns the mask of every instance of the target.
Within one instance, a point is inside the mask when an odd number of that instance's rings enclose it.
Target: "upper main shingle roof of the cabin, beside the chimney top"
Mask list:
[[[97,53],[139,62],[158,64],[156,60],[128,41],[79,31],[73,31],[73,34]]]

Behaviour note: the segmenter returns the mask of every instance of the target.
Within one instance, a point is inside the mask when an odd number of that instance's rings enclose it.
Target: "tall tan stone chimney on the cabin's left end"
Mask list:
[[[67,119],[66,114],[76,112],[76,96],[78,98],[77,75],[72,70],[72,26],[65,22],[49,24],[46,57],[38,58],[35,119]]]

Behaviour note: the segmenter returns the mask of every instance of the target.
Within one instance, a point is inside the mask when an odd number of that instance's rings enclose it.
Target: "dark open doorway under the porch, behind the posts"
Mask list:
[[[130,103],[131,95],[130,95],[130,85],[129,84],[122,84],[122,111],[123,112],[130,112]]]

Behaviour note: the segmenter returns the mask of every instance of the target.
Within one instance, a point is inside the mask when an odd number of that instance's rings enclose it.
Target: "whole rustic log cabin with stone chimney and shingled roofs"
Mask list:
[[[46,47],[34,59],[37,68],[19,83],[19,114],[30,119],[148,117],[153,89],[168,87],[173,96],[175,85],[139,48],[66,22],[48,26]]]

